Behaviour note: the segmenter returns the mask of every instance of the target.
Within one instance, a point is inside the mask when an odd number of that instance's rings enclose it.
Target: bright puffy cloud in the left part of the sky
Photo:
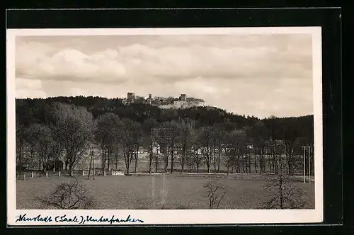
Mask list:
[[[67,81],[97,82],[113,80],[125,76],[125,67],[115,61],[115,51],[104,51],[91,55],[73,49],[64,49],[48,55],[42,45],[28,44],[16,50],[16,75],[27,79],[61,79]],[[53,51],[53,50],[50,50]],[[34,56],[21,57],[24,53],[34,52]]]

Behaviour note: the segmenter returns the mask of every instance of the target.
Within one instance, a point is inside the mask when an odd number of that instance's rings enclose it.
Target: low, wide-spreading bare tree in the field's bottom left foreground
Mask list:
[[[61,183],[52,192],[37,197],[41,207],[59,210],[89,210],[96,204],[95,198],[78,178],[70,178],[69,183]]]

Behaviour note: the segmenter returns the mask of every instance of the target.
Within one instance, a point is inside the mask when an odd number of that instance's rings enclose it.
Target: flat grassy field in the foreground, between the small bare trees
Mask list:
[[[80,179],[96,197],[95,209],[142,210],[161,205],[162,176],[155,177],[154,200],[152,200],[152,176],[96,176],[95,180],[92,178],[87,180],[86,177]],[[212,180],[212,176],[166,175],[165,203],[161,209],[208,209],[209,200],[205,197],[202,185],[209,180]],[[239,175],[235,178],[219,178],[219,180],[231,188],[219,209],[260,209],[262,202],[268,199],[262,187],[266,181],[261,176]],[[69,182],[69,177],[17,180],[17,209],[39,209],[40,204],[35,198],[49,192],[62,182]],[[306,193],[303,198],[309,202],[307,208],[313,209],[314,183],[294,183],[304,189]]]

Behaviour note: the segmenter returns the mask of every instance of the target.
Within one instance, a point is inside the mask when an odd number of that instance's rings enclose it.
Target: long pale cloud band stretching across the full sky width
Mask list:
[[[282,40],[270,45],[253,42],[248,47],[220,46],[215,40],[212,45],[192,43],[165,47],[151,47],[151,43],[140,42],[89,53],[84,52],[84,48],[80,51],[69,47],[50,47],[39,42],[19,42],[16,72],[28,79],[86,82],[124,82],[142,79],[142,76],[166,81],[196,76],[307,78],[312,73],[311,50],[297,48],[296,43],[290,41],[286,44]]]

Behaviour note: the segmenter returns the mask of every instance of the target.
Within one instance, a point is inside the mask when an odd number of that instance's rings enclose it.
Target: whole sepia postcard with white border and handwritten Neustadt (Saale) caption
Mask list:
[[[9,223],[322,222],[321,28],[7,40]]]

